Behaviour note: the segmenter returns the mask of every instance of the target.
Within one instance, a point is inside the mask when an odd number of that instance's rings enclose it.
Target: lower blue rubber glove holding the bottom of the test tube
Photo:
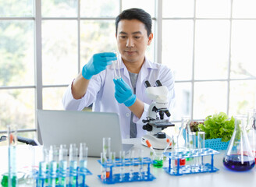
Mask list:
[[[126,107],[130,107],[136,101],[136,95],[130,86],[123,81],[123,79],[114,79],[115,83],[115,97],[120,104],[123,103]]]

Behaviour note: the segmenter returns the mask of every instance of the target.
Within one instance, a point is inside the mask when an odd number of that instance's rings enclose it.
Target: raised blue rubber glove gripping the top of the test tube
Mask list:
[[[106,69],[107,65],[111,65],[116,60],[116,54],[112,52],[94,54],[90,61],[84,65],[82,76],[84,79],[91,79],[92,76]]]

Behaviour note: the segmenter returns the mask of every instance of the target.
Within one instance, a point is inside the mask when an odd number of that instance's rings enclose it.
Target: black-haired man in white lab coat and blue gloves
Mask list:
[[[116,17],[116,41],[122,79],[114,79],[114,53],[94,54],[69,85],[62,103],[66,110],[81,111],[93,103],[93,111],[119,114],[123,138],[145,134],[142,129],[151,100],[145,95],[145,80],[151,85],[159,79],[174,99],[174,78],[170,69],[145,57],[151,44],[151,16],[142,9],[127,9]]]

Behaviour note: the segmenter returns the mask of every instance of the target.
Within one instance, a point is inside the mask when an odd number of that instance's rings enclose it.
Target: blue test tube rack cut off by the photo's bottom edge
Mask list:
[[[89,171],[87,168],[84,168],[83,171],[80,171],[80,168],[76,168],[76,174],[73,174],[72,172],[69,172],[69,168],[66,170],[66,172],[60,172],[57,170],[56,175],[51,175],[49,170],[47,169],[45,175],[40,175],[39,171],[34,172],[34,179],[36,179],[36,186],[37,187],[87,187],[88,185],[83,184],[79,185],[78,184],[78,178],[82,178],[82,180],[85,182],[85,178],[87,175],[92,175],[91,171]],[[76,185],[61,185],[59,184],[59,179],[60,178],[71,178],[73,177],[73,180],[76,180]],[[48,184],[49,179],[55,179],[55,185]],[[68,181],[68,180],[67,180]]]

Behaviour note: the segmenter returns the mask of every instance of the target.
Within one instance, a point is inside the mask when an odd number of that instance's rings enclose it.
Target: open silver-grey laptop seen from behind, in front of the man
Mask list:
[[[122,144],[119,115],[91,111],[49,111],[37,110],[38,124],[43,145],[59,146],[70,143],[86,143],[89,157],[100,157],[102,138],[111,138],[111,151],[119,155],[128,151],[132,144]]]

